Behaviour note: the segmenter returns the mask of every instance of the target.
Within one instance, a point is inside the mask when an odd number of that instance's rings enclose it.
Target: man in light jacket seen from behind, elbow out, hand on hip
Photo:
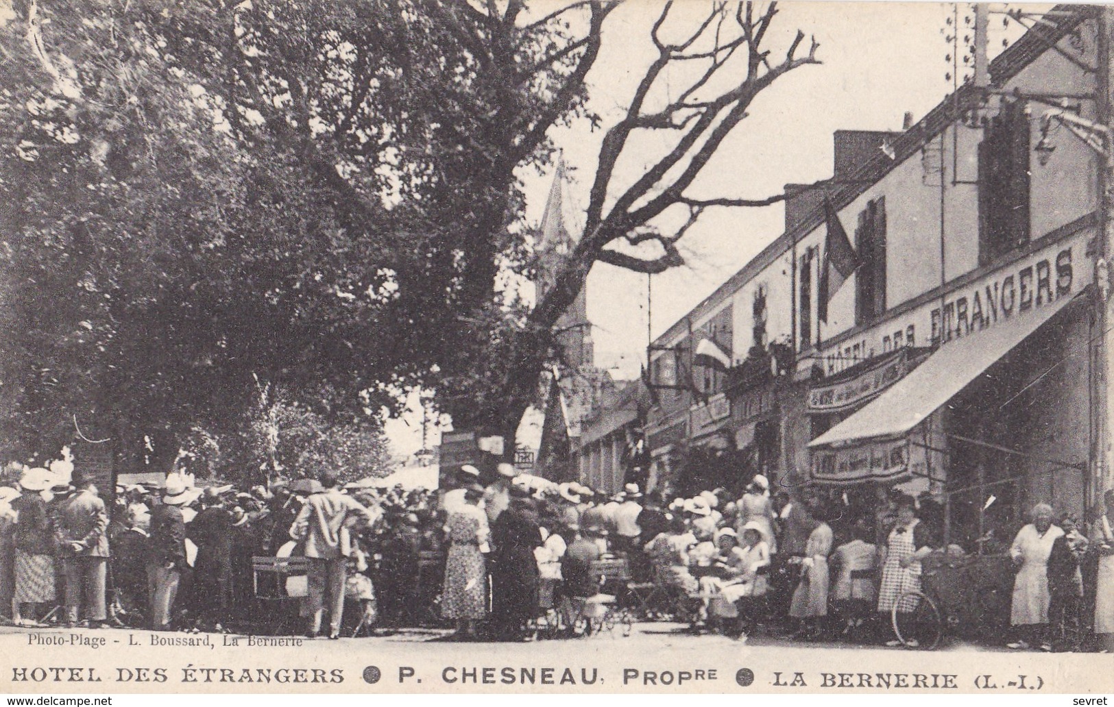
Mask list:
[[[329,595],[329,638],[340,638],[341,618],[344,613],[345,567],[350,547],[345,536],[349,519],[371,526],[379,517],[379,509],[370,510],[340,489],[340,480],[332,473],[321,478],[324,491],[314,493],[305,501],[302,511],[290,529],[294,540],[305,540],[305,557],[310,560],[310,631],[311,637],[321,634],[325,612],[325,595]]]

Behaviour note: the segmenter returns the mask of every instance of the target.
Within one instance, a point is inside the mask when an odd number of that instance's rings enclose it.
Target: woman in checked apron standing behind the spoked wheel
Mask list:
[[[879,563],[882,566],[881,581],[878,583],[878,612],[880,625],[890,626],[890,612],[898,603],[898,597],[907,590],[920,590],[920,561],[932,551],[928,529],[917,518],[912,497],[902,495],[897,500],[897,521],[886,536]],[[898,611],[911,613],[917,609],[916,600],[903,599]],[[887,646],[900,646],[896,638]]]

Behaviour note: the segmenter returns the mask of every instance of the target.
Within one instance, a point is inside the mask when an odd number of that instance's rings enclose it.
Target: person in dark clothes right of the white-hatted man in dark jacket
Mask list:
[[[194,599],[206,629],[223,630],[233,608],[232,513],[213,487],[202,494],[202,510],[186,528],[197,546],[194,560]]]

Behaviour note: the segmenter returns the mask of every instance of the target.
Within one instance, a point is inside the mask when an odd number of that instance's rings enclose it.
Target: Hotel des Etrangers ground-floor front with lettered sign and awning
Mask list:
[[[968,552],[1008,547],[1034,503],[1082,514],[1092,436],[1085,235],[1034,247],[851,337],[860,352],[883,353],[810,389],[821,432],[809,443],[812,480],[860,494],[900,485],[938,503],[942,539]],[[886,351],[896,331],[928,332],[931,353],[908,335],[903,350]],[[825,352],[829,370],[847,350]]]

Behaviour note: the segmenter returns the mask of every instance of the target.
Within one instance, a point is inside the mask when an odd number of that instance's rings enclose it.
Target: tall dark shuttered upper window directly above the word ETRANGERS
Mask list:
[[[1024,101],[1003,105],[978,146],[979,265],[1029,239],[1029,118]]]

